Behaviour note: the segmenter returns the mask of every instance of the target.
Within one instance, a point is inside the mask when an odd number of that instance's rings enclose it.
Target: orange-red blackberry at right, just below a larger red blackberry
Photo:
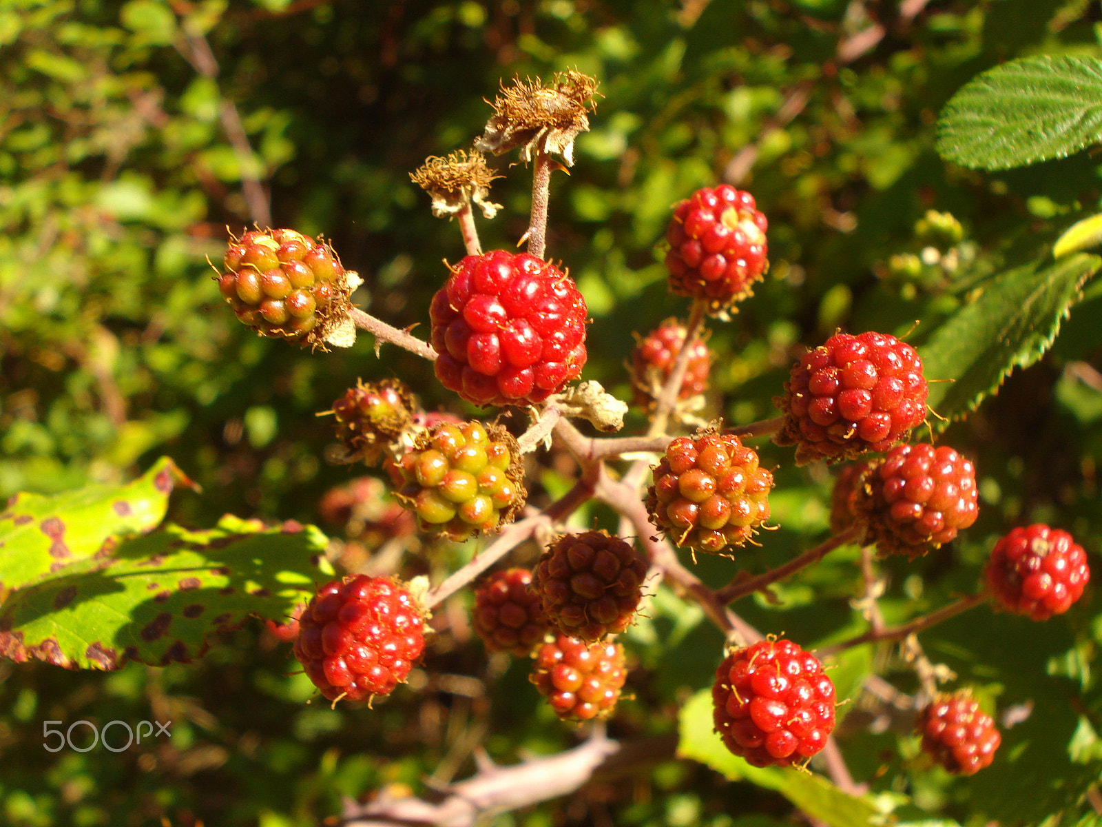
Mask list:
[[[852,503],[865,541],[917,557],[949,543],[979,514],[975,468],[947,445],[896,445],[869,463]]]

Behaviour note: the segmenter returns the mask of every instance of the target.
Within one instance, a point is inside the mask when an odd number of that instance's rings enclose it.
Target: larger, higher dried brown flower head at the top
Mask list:
[[[558,73],[549,87],[539,78],[503,83],[475,147],[497,155],[519,148],[526,162],[534,152],[555,153],[573,167],[574,139],[590,129],[586,111],[596,107],[596,90],[597,82],[576,69]]]

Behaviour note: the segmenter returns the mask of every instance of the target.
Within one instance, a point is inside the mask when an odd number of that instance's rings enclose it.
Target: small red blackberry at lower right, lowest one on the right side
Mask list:
[[[918,713],[922,751],[951,773],[972,775],[987,766],[1003,740],[990,715],[968,690],[939,695]]]

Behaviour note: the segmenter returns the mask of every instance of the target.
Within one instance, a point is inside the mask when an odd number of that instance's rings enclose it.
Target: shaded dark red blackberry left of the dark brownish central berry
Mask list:
[[[472,617],[487,649],[520,657],[543,641],[548,622],[539,595],[528,588],[531,582],[528,569],[506,569],[494,572],[475,589]]]

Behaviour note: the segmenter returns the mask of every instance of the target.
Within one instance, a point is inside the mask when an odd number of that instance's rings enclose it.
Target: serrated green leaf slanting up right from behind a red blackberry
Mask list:
[[[984,282],[979,297],[918,348],[931,382],[928,404],[940,417],[975,410],[1011,370],[1040,358],[1102,258],[1079,253],[1041,265],[1038,259]]]

